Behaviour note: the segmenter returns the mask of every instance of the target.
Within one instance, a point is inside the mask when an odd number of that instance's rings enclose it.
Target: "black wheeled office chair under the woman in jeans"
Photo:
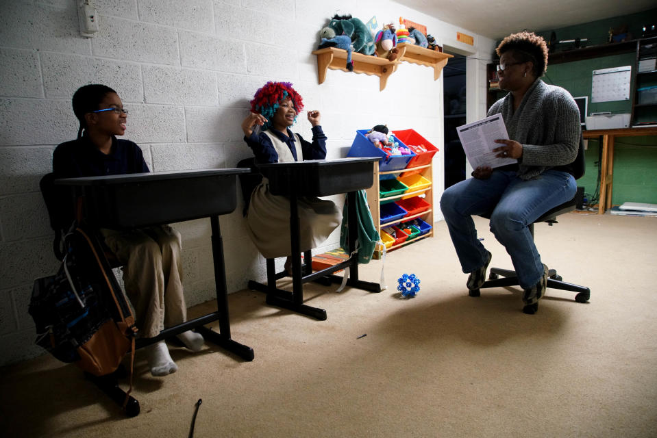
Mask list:
[[[580,148],[578,155],[573,162],[573,176],[575,179],[580,179],[584,176],[584,171],[586,170],[586,162],[584,161],[584,141],[580,138]],[[568,213],[575,209],[575,198],[571,201],[557,205],[553,209],[546,211],[540,218],[534,220],[534,223],[530,224],[529,229],[532,233],[532,238],[534,237],[534,224],[537,222],[547,222],[548,225],[553,225],[558,223],[556,217],[560,214]],[[490,214],[481,215],[483,218],[490,219]],[[499,278],[499,277],[503,278]],[[488,281],[486,281],[480,289],[485,289],[488,287],[506,287],[506,286],[517,286],[518,277],[515,271],[500,269],[500,268],[491,268],[491,274],[488,276]],[[588,287],[574,285],[571,283],[566,283],[563,281],[562,277],[557,274],[556,270],[550,269],[547,279],[547,287],[552,289],[567,290],[571,292],[577,292],[575,295],[575,301],[577,302],[587,302],[591,298],[591,289]],[[469,292],[470,296],[480,296],[479,289],[473,289]]]

